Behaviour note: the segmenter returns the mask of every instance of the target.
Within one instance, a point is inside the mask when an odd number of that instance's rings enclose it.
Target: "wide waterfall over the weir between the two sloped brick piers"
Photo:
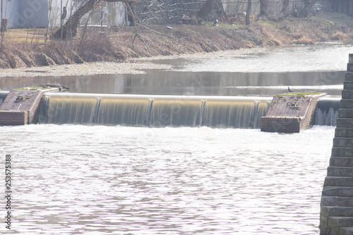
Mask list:
[[[260,128],[272,97],[47,93],[39,123]]]

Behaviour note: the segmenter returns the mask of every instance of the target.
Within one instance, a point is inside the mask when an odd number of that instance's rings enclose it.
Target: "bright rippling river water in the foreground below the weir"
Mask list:
[[[332,127],[0,131],[13,155],[13,233],[318,234]]]

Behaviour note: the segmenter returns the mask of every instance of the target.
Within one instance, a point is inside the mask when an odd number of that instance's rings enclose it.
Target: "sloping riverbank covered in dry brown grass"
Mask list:
[[[123,62],[150,56],[217,52],[228,49],[268,47],[281,44],[312,44],[328,41],[353,41],[353,20],[337,13],[311,18],[275,21],[253,19],[251,26],[222,24],[148,25],[138,27],[132,44],[133,28],[90,28],[81,41],[17,42],[4,38],[0,68],[27,68],[92,61]],[[36,37],[44,38],[45,30]],[[8,34],[11,33],[11,30]]]

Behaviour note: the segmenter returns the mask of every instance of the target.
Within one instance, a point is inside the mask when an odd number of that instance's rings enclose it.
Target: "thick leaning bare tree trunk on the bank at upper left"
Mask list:
[[[99,0],[88,0],[83,6],[78,8],[78,10],[68,18],[65,25],[63,25],[59,30],[56,30],[52,37],[58,39],[68,39],[75,37],[77,35],[77,28],[80,25],[80,18],[82,18],[85,13],[92,10],[92,8],[97,4]]]

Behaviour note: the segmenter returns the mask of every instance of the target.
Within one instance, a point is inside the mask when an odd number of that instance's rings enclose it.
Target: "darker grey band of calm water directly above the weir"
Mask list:
[[[147,71],[80,77],[0,78],[4,90],[30,84],[61,84],[71,92],[141,95],[273,96],[297,90],[316,90],[340,95],[345,71],[297,73],[216,73]],[[295,89],[294,89],[295,90]]]

